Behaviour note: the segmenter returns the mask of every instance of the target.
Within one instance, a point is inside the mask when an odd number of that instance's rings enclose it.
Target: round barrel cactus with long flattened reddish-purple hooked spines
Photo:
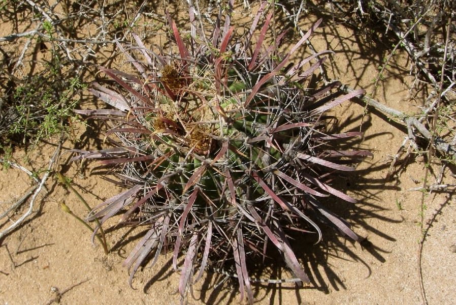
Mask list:
[[[210,266],[236,275],[241,299],[246,292],[251,303],[249,262],[274,249],[294,281],[310,283],[290,231],[320,241],[322,221],[360,240],[317,198],[355,202],[330,186],[330,176],[353,171],[353,159],[371,153],[337,149],[338,140],[362,134],[328,134],[323,114],[363,91],[341,95],[334,90],[339,82],[307,89],[306,81],[326,59],[315,58],[329,51],[292,58],[321,20],[285,52],[280,48],[285,32],[266,43],[272,9],[262,2],[247,35],[237,37],[230,12],[224,26],[218,16],[207,36],[190,8],[188,41],[169,18],[176,52],[149,50],[132,34],[137,46],[118,42],[118,48],[138,73],[100,68],[121,89],[98,83],[90,89],[113,109],[76,110],[106,121],[106,137],[115,147],[73,149],[77,156],[71,161],[97,159],[128,186],[91,211],[87,220],[100,220],[92,240],[119,213],[124,225],[147,226],[125,261],[130,283],[150,255],[153,265],[164,249],[172,249],[183,299]]]

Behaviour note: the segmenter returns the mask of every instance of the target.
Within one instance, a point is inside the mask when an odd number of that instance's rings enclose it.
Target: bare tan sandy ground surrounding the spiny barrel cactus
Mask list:
[[[315,20],[315,16],[309,16],[309,20]],[[361,41],[359,33],[331,20],[325,21],[312,39],[317,49],[335,51],[332,64],[328,65],[330,77],[370,92],[386,51],[380,43]],[[395,55],[373,97],[398,110],[416,112],[424,101],[420,92],[409,94],[413,81],[409,65],[404,54]],[[356,102],[338,107],[333,113],[339,118],[338,129],[357,130],[363,111],[364,105]],[[83,131],[80,127],[77,132]],[[373,111],[364,117],[363,131],[362,147],[371,150],[374,157],[360,164],[355,174],[335,181],[359,202],[349,205],[334,199],[332,208],[347,219],[357,234],[368,237],[371,245],[361,247],[333,231],[325,231],[323,241],[306,245],[300,257],[312,285],[302,289],[291,284],[255,285],[258,304],[422,303],[417,263],[422,193],[410,189],[421,186],[425,163],[422,157],[413,155],[404,163],[403,171],[387,181],[392,157],[404,140],[404,129]],[[63,149],[70,148],[72,142],[64,143]],[[54,150],[55,145],[43,144],[28,157],[24,151],[15,151],[13,160],[42,176],[40,170],[48,166]],[[64,164],[66,158],[63,156],[59,162]],[[401,163],[398,164],[397,169]],[[433,182],[440,167],[432,164],[431,168],[435,171],[430,175]],[[81,174],[78,164],[72,164],[67,175],[92,206],[120,191],[89,171]],[[454,180],[445,172],[447,184],[455,184]],[[32,185],[32,180],[18,169],[0,171],[0,211]],[[122,228],[109,232],[108,241],[114,250],[105,255],[100,246],[90,242],[90,232],[60,209],[60,203],[65,202],[75,214],[86,215],[74,194],[57,185],[54,179],[49,179],[46,187],[48,193],[40,195],[33,217],[2,240],[0,304],[179,303],[179,294],[175,293],[178,275],[172,271],[171,254],[162,255],[153,268],[138,272],[134,289],[130,288],[122,262],[134,247],[139,231]],[[424,216],[427,238],[422,248],[421,271],[424,289],[430,304],[450,304],[456,299],[455,199],[448,192],[427,193],[424,202],[427,206]],[[26,208],[27,205],[21,212]],[[208,280],[196,287],[198,299],[190,297],[190,303],[238,302],[236,282],[234,286],[228,282],[214,290],[211,280],[214,275],[208,273]]]

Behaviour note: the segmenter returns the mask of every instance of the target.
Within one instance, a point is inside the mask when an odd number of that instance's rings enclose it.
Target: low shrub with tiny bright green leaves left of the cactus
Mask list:
[[[0,138],[36,145],[67,130],[69,119],[75,117],[73,109],[79,103],[75,96],[86,85],[64,72],[65,65],[54,52],[45,70],[15,84],[13,92],[0,105]]]

